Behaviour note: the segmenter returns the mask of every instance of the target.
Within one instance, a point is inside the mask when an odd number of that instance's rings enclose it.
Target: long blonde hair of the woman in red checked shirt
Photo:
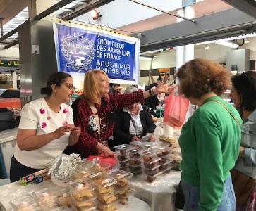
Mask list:
[[[83,82],[83,93],[80,95],[80,98],[83,98],[87,103],[97,103],[100,97],[102,97],[99,93],[98,80],[96,75],[102,73],[106,79],[109,81],[109,77],[106,75],[106,72],[94,69],[88,70],[85,73],[85,79]],[[108,98],[108,94],[106,97]]]

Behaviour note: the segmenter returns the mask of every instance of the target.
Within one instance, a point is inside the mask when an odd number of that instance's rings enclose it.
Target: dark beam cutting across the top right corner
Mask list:
[[[253,18],[256,18],[256,1],[255,0],[221,0],[246,13]]]

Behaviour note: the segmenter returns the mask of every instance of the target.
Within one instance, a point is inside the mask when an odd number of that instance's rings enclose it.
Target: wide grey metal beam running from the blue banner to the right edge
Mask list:
[[[239,18],[238,18],[239,17]],[[256,32],[255,18],[236,8],[142,32],[140,53]],[[138,35],[133,34],[133,37]]]

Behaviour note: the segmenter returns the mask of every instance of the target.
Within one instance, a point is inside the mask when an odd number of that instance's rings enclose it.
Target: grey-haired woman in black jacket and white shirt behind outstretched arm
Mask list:
[[[137,87],[127,87],[125,93],[138,91]],[[153,133],[156,128],[150,110],[140,103],[133,103],[116,111],[114,126],[114,146],[139,141],[142,136]],[[154,141],[152,135],[150,141]]]

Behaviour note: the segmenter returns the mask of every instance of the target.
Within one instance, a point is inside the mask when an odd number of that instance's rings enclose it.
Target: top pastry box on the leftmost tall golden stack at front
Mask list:
[[[94,188],[86,181],[86,179],[80,179],[70,181],[68,188],[71,190],[71,195],[77,200],[83,201],[93,197]]]

